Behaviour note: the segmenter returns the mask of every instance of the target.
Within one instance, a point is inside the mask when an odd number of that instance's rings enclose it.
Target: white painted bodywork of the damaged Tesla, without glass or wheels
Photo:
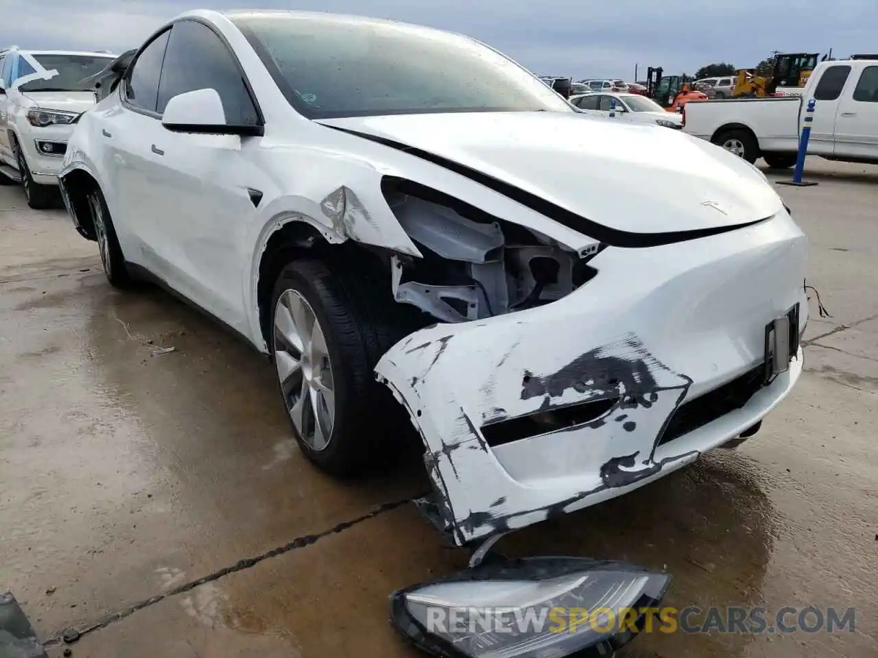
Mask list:
[[[352,240],[421,258],[381,191],[385,176],[438,190],[576,254],[599,244],[471,176],[351,131],[454,161],[616,234],[730,229],[664,247],[608,247],[594,258],[594,279],[567,297],[434,325],[384,355],[376,372],[412,413],[457,543],[594,504],[680,468],[752,426],[795,383],[801,354],[744,408],[655,447],[681,403],[759,365],[766,323],[797,303],[802,326],[807,319],[805,237],[744,161],[679,131],[573,111],[310,121],[287,104],[225,16],[184,16],[205,19],[225,36],[263,111],[264,135],[171,132],[114,93],[76,126],[61,176],[79,169],[97,180],[126,261],[263,352],[259,264],[279,227],[303,222],[330,245]],[[342,188],[357,209],[343,221],[321,206]],[[248,190],[261,193],[256,206]],[[551,392],[552,378],[587,354],[628,368],[630,381],[613,385],[620,394],[655,396],[630,410],[637,429],[616,421],[622,413],[614,410],[600,427],[486,447],[479,428],[488,420],[597,396],[594,382]],[[522,396],[526,375],[545,390]],[[637,390],[646,380],[654,390]],[[618,470],[612,484],[603,473],[608,463]]]

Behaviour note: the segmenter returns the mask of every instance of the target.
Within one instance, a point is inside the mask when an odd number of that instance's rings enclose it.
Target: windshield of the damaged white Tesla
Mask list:
[[[307,118],[574,111],[515,62],[455,34],[326,14],[229,18]]]

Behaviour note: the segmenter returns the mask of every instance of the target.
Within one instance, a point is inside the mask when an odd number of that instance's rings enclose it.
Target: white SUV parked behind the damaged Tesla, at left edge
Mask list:
[[[32,208],[54,203],[73,123],[96,100],[83,81],[114,59],[16,46],[0,51],[0,184],[22,183]]]

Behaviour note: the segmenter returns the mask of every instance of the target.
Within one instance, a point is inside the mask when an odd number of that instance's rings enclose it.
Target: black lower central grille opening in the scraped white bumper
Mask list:
[[[679,439],[683,434],[693,432],[699,427],[712,423],[716,418],[722,418],[727,413],[740,409],[750,401],[756,391],[762,388],[764,382],[765,369],[763,366],[758,366],[729,383],[724,383],[718,389],[682,404],[671,416],[671,421],[659,440],[659,446]]]

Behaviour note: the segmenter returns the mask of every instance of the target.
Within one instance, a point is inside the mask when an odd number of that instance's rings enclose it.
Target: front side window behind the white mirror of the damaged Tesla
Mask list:
[[[170,31],[162,66],[157,111],[198,89],[215,89],[229,125],[260,125],[241,68],[228,47],[203,23],[182,20]]]

